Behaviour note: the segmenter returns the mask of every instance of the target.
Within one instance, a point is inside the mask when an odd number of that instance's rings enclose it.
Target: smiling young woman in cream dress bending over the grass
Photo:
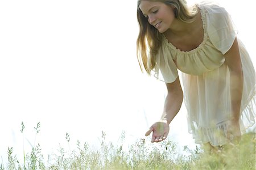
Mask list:
[[[184,102],[196,143],[239,141],[255,124],[255,71],[225,8],[184,0],[139,0],[137,56],[142,70],[166,83],[167,97],[151,142],[167,138]],[[183,87],[178,71],[182,73]]]

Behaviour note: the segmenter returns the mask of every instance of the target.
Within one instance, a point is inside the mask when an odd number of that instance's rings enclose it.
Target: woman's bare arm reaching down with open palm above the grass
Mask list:
[[[147,131],[146,136],[150,135],[151,142],[160,142],[167,138],[170,127],[169,124],[179,112],[181,103],[183,101],[183,91],[180,86],[179,77],[173,83],[166,83],[168,94],[164,103],[164,110],[160,121],[155,122]]]

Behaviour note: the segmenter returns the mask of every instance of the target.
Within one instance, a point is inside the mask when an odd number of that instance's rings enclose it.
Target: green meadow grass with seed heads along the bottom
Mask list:
[[[25,126],[22,123],[23,133]],[[40,123],[35,127],[40,131]],[[66,134],[69,143],[69,134]],[[17,160],[13,148],[7,150],[8,162],[1,163],[0,169],[255,169],[255,134],[243,135],[239,145],[223,148],[218,152],[204,152],[196,147],[184,147],[185,155],[177,152],[176,143],[166,139],[151,143],[150,138],[138,139],[128,148],[123,148],[125,133],[117,145],[106,142],[102,131],[100,148],[97,150],[88,143],[77,141],[76,150],[67,151],[60,147],[55,154],[44,158],[40,144],[30,152],[23,149],[23,160]]]

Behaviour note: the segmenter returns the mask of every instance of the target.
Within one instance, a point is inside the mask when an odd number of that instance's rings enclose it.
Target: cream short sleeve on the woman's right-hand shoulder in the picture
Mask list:
[[[231,16],[218,5],[205,6],[207,32],[210,41],[222,54],[228,52],[237,36]]]

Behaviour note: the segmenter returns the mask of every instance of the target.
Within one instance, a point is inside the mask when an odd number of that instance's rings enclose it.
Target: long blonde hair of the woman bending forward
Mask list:
[[[163,36],[154,26],[148,23],[147,18],[142,14],[139,8],[141,1],[163,2],[168,6],[174,6],[175,18],[186,23],[191,23],[195,20],[197,7],[189,10],[184,0],[138,0],[137,19],[139,23],[139,35],[137,39],[137,58],[142,72],[144,68],[150,74],[151,70],[155,68],[155,56],[162,45]]]

